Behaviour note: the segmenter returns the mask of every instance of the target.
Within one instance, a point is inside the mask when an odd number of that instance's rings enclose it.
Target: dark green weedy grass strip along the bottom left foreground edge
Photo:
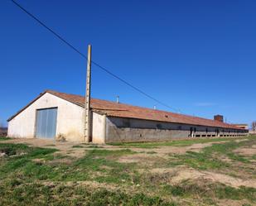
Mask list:
[[[125,194],[121,191],[94,189],[87,186],[67,186],[65,184],[24,184],[20,180],[0,183],[2,206],[9,205],[146,205],[175,206],[158,196],[146,194]]]

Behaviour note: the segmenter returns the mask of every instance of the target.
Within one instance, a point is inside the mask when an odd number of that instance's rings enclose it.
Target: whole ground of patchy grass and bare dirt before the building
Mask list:
[[[0,205],[253,206],[255,168],[256,137],[106,146],[0,137]]]

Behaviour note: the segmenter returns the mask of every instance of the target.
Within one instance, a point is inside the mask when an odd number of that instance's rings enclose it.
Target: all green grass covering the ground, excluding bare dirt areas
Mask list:
[[[201,141],[196,139],[196,141]],[[221,141],[223,139],[221,138]],[[178,141],[177,146],[184,146]],[[162,142],[160,142],[162,143]],[[198,143],[198,142],[197,142]],[[201,142],[202,143],[202,142]],[[246,141],[229,141],[217,143],[203,148],[200,152],[189,151],[184,155],[170,155],[170,160],[157,159],[159,165],[139,165],[138,163],[123,163],[118,159],[137,153],[129,149],[118,150],[99,149],[91,147],[85,150],[85,156],[80,159],[65,156],[54,148],[37,148],[24,144],[0,143],[0,151],[7,156],[0,158],[0,203],[1,205],[176,205],[171,199],[177,196],[181,205],[191,201],[191,205],[215,205],[216,199],[248,199],[254,205],[256,191],[253,188],[232,188],[225,184],[203,183],[202,181],[184,181],[181,184],[167,185],[170,174],[148,175],[139,169],[153,166],[167,167],[189,165],[199,170],[234,168],[233,161],[242,165],[251,165],[252,157],[240,156],[233,151],[240,146],[256,144],[255,137]],[[191,144],[191,143],[190,143]],[[87,145],[94,146],[94,145]],[[85,148],[87,148],[85,146]],[[55,153],[56,152],[56,153]],[[154,151],[144,151],[145,154],[155,154]],[[228,156],[229,163],[219,159]],[[154,156],[149,156],[154,159]],[[61,160],[60,160],[61,159]],[[63,159],[63,160],[62,160]],[[246,169],[246,168],[245,168]],[[248,169],[248,168],[247,168]],[[254,172],[254,170],[250,171]],[[125,191],[109,191],[106,189],[89,188],[79,181],[95,181],[107,185],[116,185]],[[67,183],[68,182],[68,183]],[[138,186],[137,186],[138,185]],[[151,194],[148,196],[147,194]],[[183,202],[184,200],[184,202]],[[194,202],[195,200],[195,202]],[[190,204],[188,204],[190,205]]]

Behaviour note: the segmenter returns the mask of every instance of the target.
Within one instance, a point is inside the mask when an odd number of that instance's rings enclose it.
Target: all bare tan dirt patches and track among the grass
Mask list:
[[[247,139],[238,139],[234,142],[242,143],[247,141]],[[254,188],[256,189],[256,162],[254,156],[256,155],[256,145],[251,146],[241,146],[232,151],[235,155],[244,156],[250,158],[250,164],[244,164],[241,161],[232,160],[232,156],[226,156],[226,154],[216,155],[216,160],[221,160],[233,167],[226,169],[205,169],[199,170],[195,166],[190,166],[189,164],[167,166],[166,162],[170,162],[170,158],[173,156],[186,156],[187,154],[197,154],[204,150],[206,147],[213,146],[213,144],[222,144],[227,141],[215,141],[206,143],[192,143],[190,146],[156,146],[156,147],[139,147],[139,146],[128,146],[125,148],[123,146],[112,146],[112,145],[93,145],[78,142],[60,142],[45,139],[12,139],[4,141],[5,143],[25,143],[29,146],[45,147],[45,148],[55,148],[55,156],[60,154],[63,156],[70,156],[71,158],[62,158],[60,160],[52,160],[50,164],[55,164],[56,162],[61,162],[65,164],[71,164],[73,160],[78,160],[84,157],[89,151],[97,149],[104,151],[122,151],[128,149],[132,151],[131,154],[123,156],[108,156],[106,159],[114,160],[118,163],[123,164],[136,164],[138,165],[138,173],[144,175],[145,178],[151,181],[164,182],[170,185],[179,185],[184,183],[186,180],[196,182],[197,184],[224,184],[235,189],[242,187]],[[190,153],[191,152],[191,153]],[[236,157],[236,156],[235,156]],[[231,158],[231,159],[230,159]],[[41,159],[34,159],[33,161],[41,162]],[[56,162],[55,162],[56,161]],[[185,160],[186,162],[186,160]],[[203,162],[205,163],[205,162]],[[207,163],[207,160],[206,160]],[[236,170],[236,165],[243,170]],[[111,167],[104,165],[104,170],[111,170]],[[98,174],[97,172],[94,173]],[[51,181],[45,181],[43,184],[53,184]],[[105,188],[105,189],[122,189],[123,191],[128,191],[132,193],[134,190],[138,189],[140,185],[123,186],[122,184],[109,184],[101,183],[97,181],[67,181],[65,184],[70,186],[75,185],[85,185],[94,188]],[[158,184],[158,183],[157,183]],[[200,199],[200,198],[199,198]],[[178,202],[182,202],[182,199],[177,198]],[[185,200],[184,200],[185,201]],[[216,200],[218,205],[252,205],[248,204],[248,200],[234,201],[234,199],[218,199]],[[184,204],[190,205],[190,204]],[[204,204],[208,205],[208,204]]]

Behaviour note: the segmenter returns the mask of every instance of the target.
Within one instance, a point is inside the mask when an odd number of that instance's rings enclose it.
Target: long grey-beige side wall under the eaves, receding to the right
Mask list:
[[[193,131],[192,133],[191,128]],[[217,130],[219,130],[219,133]],[[107,117],[105,142],[167,141],[189,137],[241,137],[245,135],[248,135],[248,133],[240,132],[239,130],[234,131],[230,129],[171,122]]]

